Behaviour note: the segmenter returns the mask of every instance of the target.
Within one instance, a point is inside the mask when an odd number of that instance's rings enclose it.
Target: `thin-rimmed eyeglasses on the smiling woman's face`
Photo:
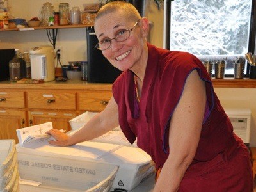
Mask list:
[[[127,40],[127,38],[129,38],[129,36],[131,35],[131,31],[136,27],[136,25],[140,22],[140,19],[134,24],[134,26],[131,29],[122,29],[120,31],[118,31],[117,35],[114,38],[106,38],[104,40],[102,40],[101,42],[98,42],[95,45],[95,48],[104,51],[106,49],[108,49],[111,45],[111,41],[113,39],[116,40],[116,42],[124,42],[125,40]]]

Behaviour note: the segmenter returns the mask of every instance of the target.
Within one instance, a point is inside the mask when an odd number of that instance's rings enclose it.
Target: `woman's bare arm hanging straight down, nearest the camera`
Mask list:
[[[184,92],[170,122],[170,154],[161,170],[154,192],[172,192],[179,189],[180,182],[196,153],[205,103],[205,84],[194,70],[186,80]]]

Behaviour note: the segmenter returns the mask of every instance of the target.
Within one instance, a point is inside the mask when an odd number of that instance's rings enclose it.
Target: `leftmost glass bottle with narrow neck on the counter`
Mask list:
[[[19,49],[15,49],[15,56],[9,62],[10,81],[18,81],[20,77]]]

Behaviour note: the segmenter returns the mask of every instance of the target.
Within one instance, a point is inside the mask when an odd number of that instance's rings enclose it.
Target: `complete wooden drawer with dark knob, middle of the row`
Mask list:
[[[28,92],[28,108],[76,109],[76,93],[51,90]]]

